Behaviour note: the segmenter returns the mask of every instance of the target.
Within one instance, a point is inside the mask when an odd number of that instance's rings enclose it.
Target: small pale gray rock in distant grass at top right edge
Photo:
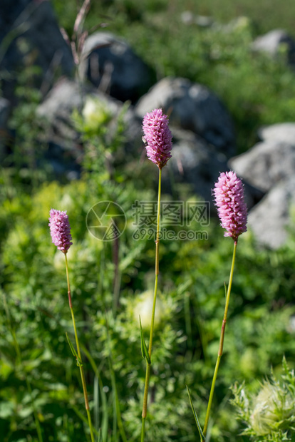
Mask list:
[[[274,29],[263,36],[259,36],[252,43],[254,51],[263,51],[270,56],[276,57],[281,46],[286,46],[287,58],[290,64],[295,63],[295,41],[283,29]]]

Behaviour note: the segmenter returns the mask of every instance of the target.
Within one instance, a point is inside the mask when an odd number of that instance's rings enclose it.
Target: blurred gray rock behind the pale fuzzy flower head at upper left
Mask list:
[[[87,111],[86,103],[90,105]],[[44,136],[54,146],[54,153],[58,153],[59,157],[63,152],[64,155],[71,156],[73,163],[81,163],[83,148],[80,135],[74,127],[72,115],[76,109],[79,112],[84,112],[84,115],[88,113],[90,120],[91,118],[95,119],[99,111],[96,111],[95,115],[89,115],[95,113],[95,108],[93,109],[95,103],[101,103],[101,108],[110,113],[111,122],[109,123],[108,136],[111,138],[117,125],[118,115],[123,111],[123,103],[95,91],[94,88],[83,87],[76,81],[61,78],[48,93],[43,103],[38,106],[37,116],[48,122]],[[121,150],[119,149],[116,153],[115,160],[118,162],[126,160],[126,155],[134,156],[135,152],[138,152],[139,146],[141,149],[143,148],[141,123],[135,116],[133,109],[128,108],[123,118],[126,128],[124,144]]]

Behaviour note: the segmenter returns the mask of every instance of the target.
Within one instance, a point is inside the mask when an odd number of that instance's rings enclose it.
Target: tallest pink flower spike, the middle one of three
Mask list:
[[[162,109],[155,109],[143,118],[147,155],[159,169],[171,158],[172,134],[168,123],[167,115],[162,113]]]

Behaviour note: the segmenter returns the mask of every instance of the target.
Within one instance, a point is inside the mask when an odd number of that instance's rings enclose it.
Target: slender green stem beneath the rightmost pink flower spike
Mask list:
[[[217,379],[219,363],[220,363],[220,359],[222,357],[222,352],[223,352],[224,333],[225,333],[225,326],[227,324],[227,312],[229,309],[229,297],[230,297],[230,292],[232,290],[232,276],[234,274],[234,261],[236,258],[236,250],[237,250],[237,240],[234,241],[234,252],[232,254],[232,267],[230,269],[230,274],[229,274],[229,286],[227,287],[227,299],[226,299],[225,307],[224,307],[224,316],[223,316],[222,329],[221,329],[220,340],[219,340],[219,349],[218,349],[217,361],[216,361],[213,379],[212,379],[212,386],[211,386],[210,395],[209,395],[207,413],[206,413],[206,417],[205,417],[205,425],[204,425],[204,430],[203,430],[203,433],[205,436],[206,436],[207,428],[208,428],[209,414],[210,414],[212,400],[213,400],[213,396],[214,396],[214,388],[215,388],[215,383],[216,383],[216,379]]]

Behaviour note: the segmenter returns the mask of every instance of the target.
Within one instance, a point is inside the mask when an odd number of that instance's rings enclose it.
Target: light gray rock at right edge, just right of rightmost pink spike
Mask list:
[[[274,185],[248,217],[248,225],[257,241],[277,249],[288,238],[290,210],[295,204],[295,177],[285,178]]]

